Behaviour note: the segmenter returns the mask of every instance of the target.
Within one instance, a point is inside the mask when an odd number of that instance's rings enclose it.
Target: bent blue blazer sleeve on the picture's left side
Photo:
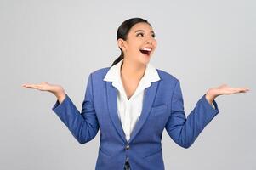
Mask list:
[[[88,77],[81,113],[67,94],[65,94],[65,99],[61,103],[57,100],[52,108],[80,144],[85,144],[94,139],[99,131],[99,122],[95,113],[93,98],[91,73]]]

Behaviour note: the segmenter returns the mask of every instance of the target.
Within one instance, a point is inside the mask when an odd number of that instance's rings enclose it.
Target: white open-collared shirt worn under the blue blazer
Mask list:
[[[134,94],[130,97],[130,99],[127,99],[127,95],[123,88],[121,79],[122,62],[123,59],[116,65],[111,66],[103,80],[112,82],[112,85],[117,88],[118,117],[122,123],[122,129],[128,141],[130,139],[130,134],[132,133],[136,122],[138,122],[142,111],[145,88],[150,87],[151,82],[160,80],[160,77],[156,71],[156,68],[148,63],[145,67],[145,74],[140,79],[139,85],[136,88]]]

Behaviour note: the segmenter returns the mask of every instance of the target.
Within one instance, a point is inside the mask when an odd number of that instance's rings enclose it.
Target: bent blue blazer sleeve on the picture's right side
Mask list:
[[[181,147],[189,148],[203,128],[219,113],[216,101],[213,100],[213,107],[205,96],[206,94],[197,101],[195,108],[186,118],[179,80],[175,84],[171,101],[171,115],[168,117],[165,128],[171,139]]]

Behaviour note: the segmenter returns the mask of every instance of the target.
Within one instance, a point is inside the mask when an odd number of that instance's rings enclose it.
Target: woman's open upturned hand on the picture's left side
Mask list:
[[[40,91],[48,91],[54,94],[61,103],[65,99],[65,90],[60,85],[49,84],[48,82],[41,82],[40,84],[22,84],[23,88],[35,88]]]

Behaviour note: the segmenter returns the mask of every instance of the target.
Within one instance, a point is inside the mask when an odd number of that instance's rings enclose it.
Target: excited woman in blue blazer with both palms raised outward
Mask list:
[[[122,54],[111,67],[89,74],[81,113],[60,85],[23,84],[56,96],[53,111],[80,144],[94,139],[100,128],[96,169],[164,169],[164,128],[176,144],[189,148],[219,113],[217,96],[248,91],[209,88],[186,118],[179,80],[149,63],[156,49],[151,24],[141,18],[125,20],[117,43]]]

